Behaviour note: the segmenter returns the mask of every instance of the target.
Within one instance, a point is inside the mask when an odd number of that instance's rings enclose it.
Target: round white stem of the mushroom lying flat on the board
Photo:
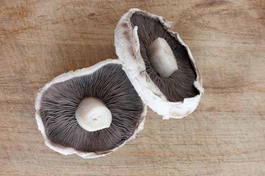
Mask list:
[[[94,97],[87,97],[80,102],[75,117],[78,124],[87,131],[108,128],[112,122],[111,111],[104,102]]]

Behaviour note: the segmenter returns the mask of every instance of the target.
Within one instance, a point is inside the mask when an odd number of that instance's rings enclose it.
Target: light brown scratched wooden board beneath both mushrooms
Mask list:
[[[162,120],[96,159],[44,145],[37,90],[55,76],[117,58],[114,29],[130,8],[174,22],[205,94],[191,115]],[[0,1],[1,175],[265,175],[264,1]]]

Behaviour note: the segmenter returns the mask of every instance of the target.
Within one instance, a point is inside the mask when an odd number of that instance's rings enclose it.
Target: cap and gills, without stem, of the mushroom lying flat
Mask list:
[[[110,110],[110,127],[86,131],[75,111],[86,97],[95,97]],[[62,154],[83,158],[107,155],[143,129],[146,105],[135,91],[117,59],[61,74],[39,90],[36,120],[45,144]]]

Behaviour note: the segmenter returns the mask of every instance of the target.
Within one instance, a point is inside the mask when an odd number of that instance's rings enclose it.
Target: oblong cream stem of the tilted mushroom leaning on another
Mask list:
[[[153,70],[162,78],[168,78],[178,69],[177,60],[168,42],[158,37],[148,47],[149,61]]]

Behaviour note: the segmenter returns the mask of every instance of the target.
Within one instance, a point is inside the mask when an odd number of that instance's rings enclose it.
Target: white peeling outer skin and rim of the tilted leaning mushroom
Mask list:
[[[132,27],[131,17],[133,14],[139,13],[152,19],[158,20],[163,28],[176,41],[185,47],[191,65],[196,73],[193,85],[198,91],[198,95],[194,97],[184,98],[183,101],[171,102],[152,81],[146,71],[145,62],[141,56],[140,42],[138,37],[138,27]],[[163,119],[183,118],[192,113],[203,94],[202,79],[198,72],[195,60],[188,46],[181,40],[179,34],[169,30],[172,22],[167,21],[161,16],[150,14],[139,9],[130,9],[122,16],[115,29],[115,47],[116,54],[122,62],[123,69],[135,87],[135,90],[143,100],[157,114],[162,115]],[[178,65],[179,67],[179,65]]]

